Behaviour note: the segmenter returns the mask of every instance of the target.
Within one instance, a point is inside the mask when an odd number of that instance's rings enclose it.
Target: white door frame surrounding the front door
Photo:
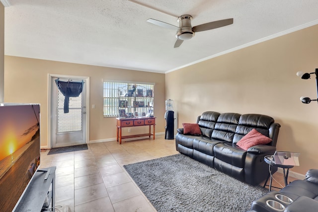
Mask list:
[[[86,104],[86,143],[89,143],[89,77],[86,76],[74,76],[74,75],[60,75],[60,74],[48,74],[48,149],[52,148],[52,78],[76,78],[79,80],[85,80],[84,88],[86,89],[86,98],[84,99]]]

